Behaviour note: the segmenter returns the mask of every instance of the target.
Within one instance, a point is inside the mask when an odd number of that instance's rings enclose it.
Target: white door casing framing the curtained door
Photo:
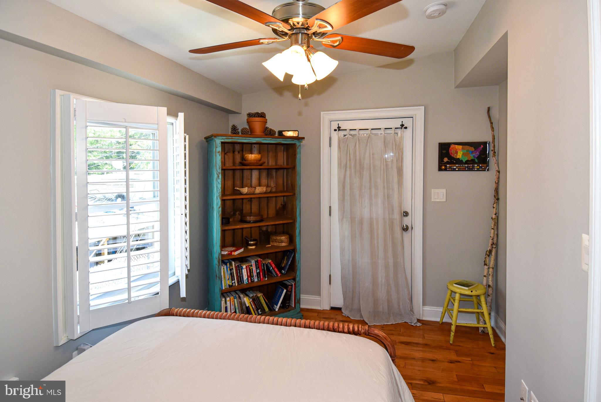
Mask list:
[[[332,120],[359,120],[376,118],[413,118],[413,202],[412,202],[412,294],[413,312],[422,316],[423,284],[423,211],[424,211],[424,106],[411,108],[359,109],[322,112],[321,133],[321,305],[330,309],[330,123]]]

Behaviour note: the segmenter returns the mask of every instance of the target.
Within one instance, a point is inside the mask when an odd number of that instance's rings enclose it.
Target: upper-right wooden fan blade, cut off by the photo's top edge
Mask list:
[[[320,19],[332,25],[332,30],[338,29],[399,1],[401,0],[340,0],[312,17],[309,26],[313,26],[315,20]]]

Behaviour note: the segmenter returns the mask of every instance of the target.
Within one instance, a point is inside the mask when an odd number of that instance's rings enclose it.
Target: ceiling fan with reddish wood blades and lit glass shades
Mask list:
[[[284,81],[285,73],[289,73],[293,76],[294,84],[305,85],[305,88],[316,79],[322,79],[329,75],[338,65],[338,61],[323,52],[316,51],[311,45],[311,40],[335,49],[353,50],[354,52],[398,59],[409,56],[415,50],[415,47],[408,44],[332,33],[341,26],[401,0],[340,0],[328,8],[305,0],[295,0],[278,5],[273,9],[272,15],[239,0],[207,1],[268,26],[277,37],[201,47],[189,50],[190,53],[214,53],[290,40],[288,49],[276,54],[263,65],[279,81]],[[300,92],[299,99],[301,99]]]

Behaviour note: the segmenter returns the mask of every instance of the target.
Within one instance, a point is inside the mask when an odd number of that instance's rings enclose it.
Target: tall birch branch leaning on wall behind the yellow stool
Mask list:
[[[496,265],[496,235],[497,235],[497,222],[498,222],[498,204],[499,204],[499,163],[496,160],[496,148],[495,148],[495,127],[492,124],[492,119],[490,118],[490,106],[486,109],[486,114],[489,118],[490,123],[490,135],[492,137],[491,142],[492,145],[490,147],[490,151],[492,153],[492,160],[495,163],[495,192],[494,199],[492,202],[492,223],[490,224],[490,239],[489,246],[486,249],[486,254],[484,254],[484,275],[482,278],[482,284],[486,288],[486,306],[488,311],[492,312],[490,309],[492,305],[492,290],[493,290],[493,281],[494,281],[494,273],[495,273],[495,265]],[[484,324],[484,320],[480,317],[480,324]],[[480,333],[486,333],[486,327],[480,327]]]

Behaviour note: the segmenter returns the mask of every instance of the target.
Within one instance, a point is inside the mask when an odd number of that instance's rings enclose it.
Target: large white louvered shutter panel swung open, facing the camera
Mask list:
[[[75,114],[70,338],[168,306],[166,109],[77,99]]]

